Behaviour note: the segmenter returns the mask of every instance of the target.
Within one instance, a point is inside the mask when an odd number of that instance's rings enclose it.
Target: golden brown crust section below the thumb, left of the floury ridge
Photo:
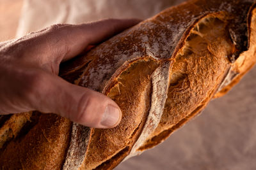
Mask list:
[[[29,132],[0,153],[1,169],[61,169],[69,143],[70,121],[42,114]]]

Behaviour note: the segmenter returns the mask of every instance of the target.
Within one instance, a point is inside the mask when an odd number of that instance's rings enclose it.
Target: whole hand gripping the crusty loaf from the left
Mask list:
[[[58,76],[60,63],[132,25],[136,19],[58,24],[0,43],[0,115],[37,110],[82,125],[111,128],[122,112],[107,96]]]

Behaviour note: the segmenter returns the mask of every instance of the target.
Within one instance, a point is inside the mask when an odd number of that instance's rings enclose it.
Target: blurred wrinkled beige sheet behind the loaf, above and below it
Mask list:
[[[74,24],[109,17],[147,18],[177,3],[179,1],[170,0],[25,0],[17,36],[56,23]],[[115,169],[256,169],[255,87],[256,68],[164,143]]]

